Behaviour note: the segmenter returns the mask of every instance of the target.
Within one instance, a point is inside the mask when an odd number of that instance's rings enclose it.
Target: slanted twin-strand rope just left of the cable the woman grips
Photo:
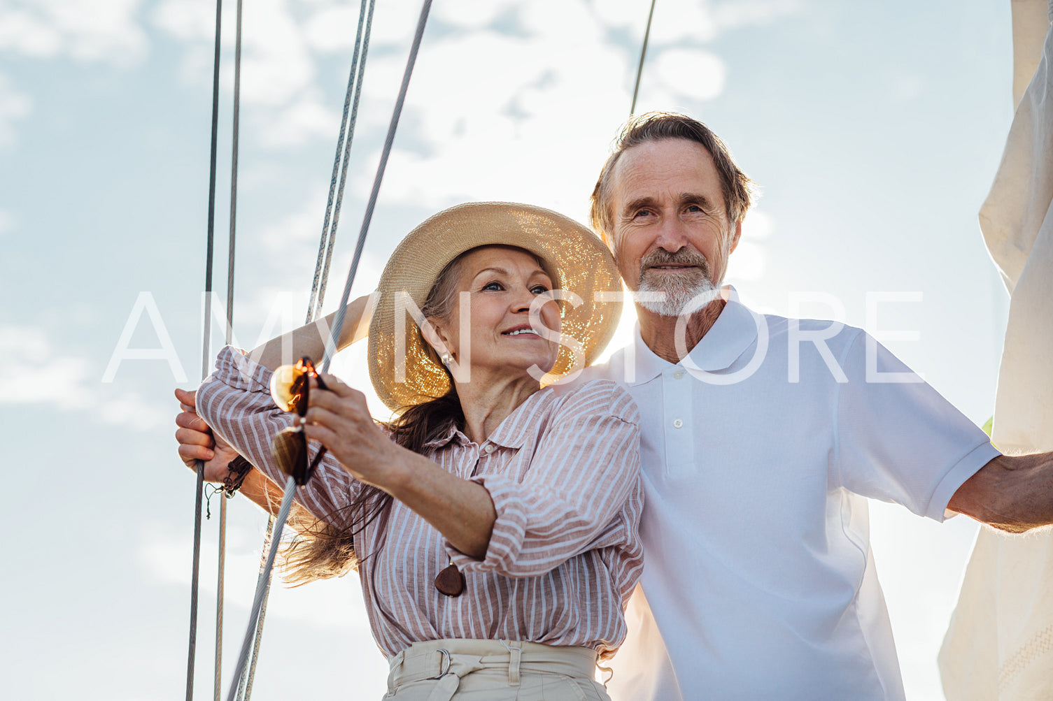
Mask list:
[[[311,323],[318,317],[319,314],[321,314],[325,297],[325,288],[329,284],[329,272],[333,260],[333,248],[336,242],[336,229],[340,217],[340,205],[343,201],[344,185],[346,183],[347,161],[351,158],[351,144],[354,139],[355,124],[358,120],[358,104],[362,94],[362,77],[365,74],[365,57],[370,46],[374,4],[374,0],[370,0],[367,16],[366,0],[362,0],[361,6],[358,11],[358,28],[355,33],[355,48],[351,59],[351,72],[347,76],[347,91],[343,101],[343,116],[340,121],[340,134],[337,137],[336,155],[333,159],[333,176],[330,179],[329,201],[325,205],[322,234],[318,243],[318,258],[315,261],[315,275],[311,283],[311,297],[307,301],[306,318],[303,322],[305,324]],[[354,100],[352,100],[352,93],[354,93]],[[341,151],[343,154],[342,167],[340,158]],[[336,189],[338,172],[340,174],[339,188]],[[334,189],[336,189],[335,214],[333,209]],[[330,226],[331,216],[332,226]],[[266,535],[263,537],[263,546],[260,550],[260,569],[256,585],[257,587],[260,586],[264,578],[266,583],[263,584],[263,597],[260,604],[259,617],[256,621],[256,633],[253,639],[252,654],[250,659],[246,661],[247,668],[240,670],[241,681],[238,686],[237,701],[247,701],[252,697],[253,693],[253,680],[256,677],[256,663],[259,660],[260,642],[263,637],[263,621],[266,617],[266,604],[271,593],[272,570],[267,570],[264,565],[266,562],[266,553],[270,548],[271,539],[274,533],[274,520],[275,517],[273,515],[269,515]]]

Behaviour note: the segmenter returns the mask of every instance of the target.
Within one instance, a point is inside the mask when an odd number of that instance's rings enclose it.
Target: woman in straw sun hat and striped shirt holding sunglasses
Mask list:
[[[553,289],[578,299],[553,301]],[[576,222],[518,204],[453,207],[402,241],[378,288],[370,373],[397,418],[378,424],[361,393],[312,380],[301,423],[329,453],[299,490],[320,525],[292,561],[301,579],[357,568],[391,665],[384,698],[608,698],[596,661],[624,638],[642,566],[638,412],[607,380],[559,394],[541,382],[602,349],[618,305],[594,293],[608,289],[620,289],[614,261]],[[349,308],[341,344],[364,306]],[[405,323],[416,309],[420,326]],[[227,347],[197,393],[200,419],[179,395],[181,455],[230,478],[225,438],[257,468],[242,489],[260,503],[283,479],[271,437],[294,423],[267,390],[283,342],[322,354],[315,326],[249,357]]]

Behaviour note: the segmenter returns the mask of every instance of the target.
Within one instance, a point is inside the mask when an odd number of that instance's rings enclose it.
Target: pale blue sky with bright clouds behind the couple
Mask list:
[[[419,12],[411,0],[377,5],[326,312]],[[354,294],[372,291],[416,223],[459,202],[528,202],[584,221],[629,113],[649,5],[436,0]],[[244,2],[242,346],[302,322],[357,7]],[[220,298],[234,8],[223,15]],[[0,674],[11,698],[183,698],[194,479],[176,456],[172,390],[202,376],[214,18],[211,0],[0,0],[0,386],[11,397]],[[1008,296],[976,212],[1012,119],[1011,46],[1005,0],[659,0],[637,112],[706,121],[760,183],[729,271],[744,301],[866,326],[982,424]],[[627,316],[611,349],[631,327]],[[211,328],[214,355],[222,328]],[[112,364],[119,346],[154,357]],[[334,370],[367,390],[365,362],[354,347]],[[265,524],[243,499],[229,513],[224,680]],[[216,523],[204,524],[198,698],[212,689]],[[965,517],[936,524],[872,505],[909,699],[943,698],[935,655],[975,533]],[[354,575],[275,586],[253,698],[379,698],[385,676]]]

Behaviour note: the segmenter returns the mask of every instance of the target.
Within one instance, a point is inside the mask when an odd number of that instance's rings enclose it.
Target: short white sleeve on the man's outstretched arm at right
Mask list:
[[[942,521],[951,497],[1000,455],[987,435],[865,332],[838,386],[835,461],[841,485]]]

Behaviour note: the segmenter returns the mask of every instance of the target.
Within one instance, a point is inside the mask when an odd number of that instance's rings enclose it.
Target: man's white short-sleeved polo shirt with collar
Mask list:
[[[831,323],[730,301],[691,362],[637,329],[583,373],[623,382],[642,416],[645,600],[615,701],[903,698],[863,497],[941,521],[999,454],[866,333]]]

